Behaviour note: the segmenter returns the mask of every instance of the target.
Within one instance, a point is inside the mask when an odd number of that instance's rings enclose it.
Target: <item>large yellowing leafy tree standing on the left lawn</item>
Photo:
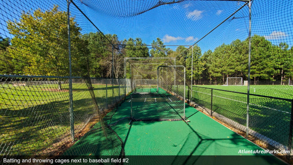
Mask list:
[[[85,75],[81,66],[86,57],[86,43],[81,39],[81,28],[74,17],[69,18],[71,61],[73,75]],[[7,22],[14,59],[18,60],[18,73],[30,75],[69,75],[67,12],[58,6],[41,11],[23,12],[20,21]],[[61,82],[59,80],[59,89]]]

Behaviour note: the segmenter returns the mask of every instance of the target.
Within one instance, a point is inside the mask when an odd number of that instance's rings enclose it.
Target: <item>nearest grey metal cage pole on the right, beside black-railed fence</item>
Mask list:
[[[248,81],[247,81],[247,109],[246,109],[246,138],[249,131],[249,85],[250,85],[250,58],[251,58],[251,1],[248,3],[249,8],[249,33],[248,33]]]

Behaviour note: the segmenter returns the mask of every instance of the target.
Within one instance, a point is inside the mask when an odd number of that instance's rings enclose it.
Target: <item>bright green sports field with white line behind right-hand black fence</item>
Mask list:
[[[247,92],[247,86],[195,85],[193,101],[211,109],[211,90]],[[251,85],[250,93],[292,99],[292,86]],[[217,112],[239,124],[246,126],[247,95],[213,90],[213,108]],[[250,96],[249,128],[285,146],[289,141],[291,101]]]

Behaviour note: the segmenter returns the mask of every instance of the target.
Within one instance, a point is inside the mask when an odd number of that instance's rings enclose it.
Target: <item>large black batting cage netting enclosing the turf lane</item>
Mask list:
[[[123,157],[119,122],[183,120],[186,102],[293,159],[292,6],[2,0],[0,155]]]

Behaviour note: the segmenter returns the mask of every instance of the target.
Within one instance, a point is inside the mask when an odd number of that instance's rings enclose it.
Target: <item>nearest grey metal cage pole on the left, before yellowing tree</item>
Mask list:
[[[69,0],[67,0],[67,33],[68,33],[68,55],[69,55],[69,114],[70,114],[70,134],[74,142],[74,118],[73,118],[73,95],[72,95],[72,71],[71,71],[71,43],[70,43],[70,19]]]

